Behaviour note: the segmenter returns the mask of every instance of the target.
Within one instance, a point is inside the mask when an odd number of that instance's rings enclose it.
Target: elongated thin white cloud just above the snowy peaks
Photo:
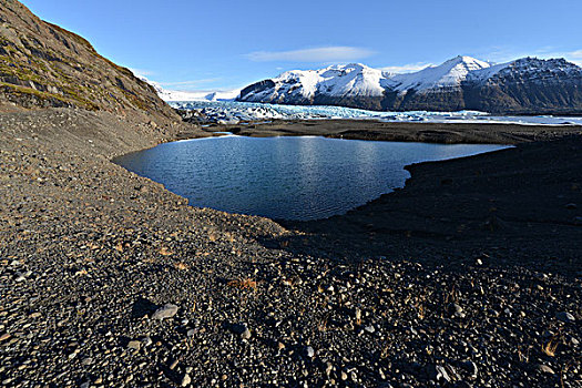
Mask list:
[[[374,55],[368,49],[334,45],[292,51],[255,51],[245,57],[254,62],[345,62]]]

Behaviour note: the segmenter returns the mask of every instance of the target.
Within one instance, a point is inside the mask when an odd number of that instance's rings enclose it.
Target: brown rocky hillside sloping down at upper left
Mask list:
[[[180,120],[154,89],[17,0],[0,7],[0,108],[70,106]]]

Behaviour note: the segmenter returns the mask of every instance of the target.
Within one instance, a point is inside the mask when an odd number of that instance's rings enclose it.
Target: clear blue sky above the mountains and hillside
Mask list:
[[[285,70],[410,71],[458,54],[582,63],[579,0],[24,0],[166,89],[229,90]]]

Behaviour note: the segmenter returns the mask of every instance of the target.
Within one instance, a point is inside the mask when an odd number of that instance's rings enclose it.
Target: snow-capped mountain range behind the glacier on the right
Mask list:
[[[581,113],[582,68],[563,59],[492,64],[456,57],[418,72],[390,74],[351,63],[288,71],[243,89],[237,101],[379,111]]]

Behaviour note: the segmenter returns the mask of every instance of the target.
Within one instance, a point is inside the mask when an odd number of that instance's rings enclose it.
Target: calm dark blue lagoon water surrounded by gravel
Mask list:
[[[402,187],[411,163],[503,145],[427,144],[315,136],[223,136],[161,144],[115,163],[162,183],[190,204],[270,218],[344,214]]]

